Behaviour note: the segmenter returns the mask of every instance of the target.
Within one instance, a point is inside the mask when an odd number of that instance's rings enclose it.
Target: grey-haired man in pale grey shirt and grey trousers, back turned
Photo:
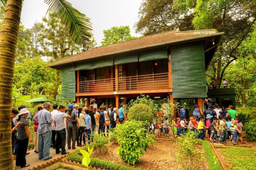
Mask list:
[[[44,160],[52,158],[52,156],[49,156],[52,137],[52,118],[51,113],[49,112],[50,108],[51,104],[46,102],[44,103],[44,109],[34,116],[34,120],[39,122],[37,130],[37,133],[39,134],[38,157],[39,159],[44,158]]]

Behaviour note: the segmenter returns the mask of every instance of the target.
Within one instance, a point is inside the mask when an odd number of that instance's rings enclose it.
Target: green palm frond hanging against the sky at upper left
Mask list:
[[[90,19],[65,0],[44,0],[44,2],[49,5],[48,11],[67,24],[73,40],[77,44],[86,44],[92,31]]]

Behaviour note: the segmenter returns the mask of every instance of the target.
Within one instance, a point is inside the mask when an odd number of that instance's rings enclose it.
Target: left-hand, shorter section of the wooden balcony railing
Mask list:
[[[89,80],[79,82],[79,92],[109,92],[115,91],[115,79]]]

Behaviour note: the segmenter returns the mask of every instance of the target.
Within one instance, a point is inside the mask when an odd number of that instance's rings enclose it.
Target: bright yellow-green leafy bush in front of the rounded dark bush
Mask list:
[[[147,146],[154,144],[152,135],[146,133],[145,123],[141,121],[126,121],[118,124],[114,133],[117,134],[117,142],[120,145],[118,155],[128,164],[140,162],[139,157],[144,154]]]

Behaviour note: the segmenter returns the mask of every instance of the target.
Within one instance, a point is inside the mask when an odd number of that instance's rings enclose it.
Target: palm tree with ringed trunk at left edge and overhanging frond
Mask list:
[[[65,0],[44,0],[49,12],[63,20],[78,44],[90,37],[90,19]],[[0,31],[0,169],[14,169],[11,150],[11,105],[15,50],[23,0],[0,0],[4,11]]]

